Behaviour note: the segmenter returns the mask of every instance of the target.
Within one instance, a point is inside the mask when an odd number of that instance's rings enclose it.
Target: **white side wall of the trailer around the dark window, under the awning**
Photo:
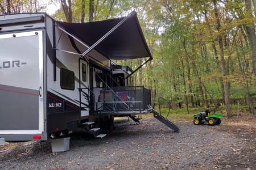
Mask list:
[[[51,25],[51,22],[47,22],[47,25]],[[48,33],[48,36],[51,35],[51,32]],[[49,36],[51,37],[51,36]],[[56,39],[56,68],[53,66],[53,63],[47,62],[47,90],[56,96],[61,96],[61,100],[68,101],[69,103],[75,105],[74,109],[81,109],[80,116],[89,116],[89,90],[90,86],[95,86],[95,72],[92,73],[89,71],[89,64],[85,59],[82,59],[78,53],[84,52],[87,47],[84,44],[81,44],[73,37],[68,37],[67,33],[61,31],[58,27],[55,28],[55,39]],[[71,39],[73,39],[74,44],[72,44]],[[50,39],[50,42],[53,41]],[[74,46],[80,50],[78,52]],[[110,60],[102,54],[98,53],[95,50],[89,53],[87,59],[97,63],[98,66],[109,69]],[[82,63],[86,65],[86,81],[82,80]],[[74,90],[65,90],[60,87],[60,69],[67,69],[73,71],[75,74],[75,89]],[[80,68],[80,70],[79,70]],[[56,81],[53,80],[53,72],[56,69]],[[80,77],[79,77],[80,75]],[[90,79],[92,79],[92,85],[90,85]],[[79,90],[82,89],[82,92]],[[81,94],[80,94],[81,93]],[[80,99],[81,97],[81,99]],[[62,102],[62,101],[60,101]],[[80,108],[81,106],[81,108]]]

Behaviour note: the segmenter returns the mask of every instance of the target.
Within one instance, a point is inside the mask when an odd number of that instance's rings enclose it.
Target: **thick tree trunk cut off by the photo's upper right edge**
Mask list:
[[[252,20],[249,26],[246,25],[246,32],[250,41],[251,59],[253,61],[253,73],[254,73],[254,78],[256,78],[256,36],[255,36],[255,25],[253,22],[253,12],[251,9],[251,0],[245,0],[245,5],[246,5],[247,12],[249,12]]]

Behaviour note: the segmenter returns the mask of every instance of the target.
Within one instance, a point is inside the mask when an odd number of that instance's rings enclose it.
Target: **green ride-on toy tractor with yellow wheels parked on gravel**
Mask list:
[[[205,112],[198,112],[194,115],[193,123],[194,125],[200,125],[204,123],[208,123],[210,126],[220,125],[222,117],[223,116],[220,113],[209,113],[208,116],[206,116]]]

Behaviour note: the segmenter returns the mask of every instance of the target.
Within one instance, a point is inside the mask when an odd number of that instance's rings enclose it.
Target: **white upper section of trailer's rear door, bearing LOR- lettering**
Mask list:
[[[35,31],[0,35],[0,43],[2,69],[0,84],[39,90],[39,80],[31,80],[38,77],[40,72],[39,69],[35,69],[39,68],[39,35],[36,36]],[[28,49],[27,46],[30,48]]]

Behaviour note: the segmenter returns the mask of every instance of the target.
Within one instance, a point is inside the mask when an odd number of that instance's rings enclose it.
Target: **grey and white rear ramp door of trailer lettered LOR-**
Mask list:
[[[0,35],[0,137],[29,141],[43,133],[43,85],[43,31]]]

